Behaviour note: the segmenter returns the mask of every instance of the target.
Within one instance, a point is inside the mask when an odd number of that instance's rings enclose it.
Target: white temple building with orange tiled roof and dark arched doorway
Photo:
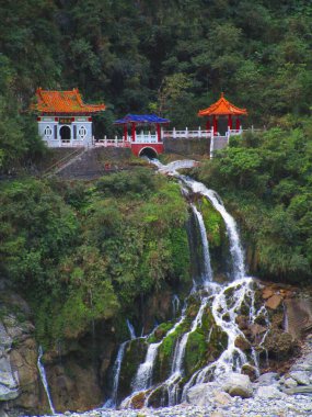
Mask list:
[[[92,145],[92,114],[103,112],[105,104],[84,104],[78,89],[49,91],[37,89],[38,132],[48,147]]]

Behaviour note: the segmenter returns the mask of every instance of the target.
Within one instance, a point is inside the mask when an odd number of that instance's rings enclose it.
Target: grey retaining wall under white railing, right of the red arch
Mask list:
[[[164,138],[163,139],[165,154],[185,155],[209,155],[210,139],[187,139],[187,138]]]

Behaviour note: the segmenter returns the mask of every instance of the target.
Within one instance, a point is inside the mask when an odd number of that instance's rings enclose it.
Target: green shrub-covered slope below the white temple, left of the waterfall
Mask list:
[[[125,317],[137,297],[188,279],[186,203],[148,169],[4,182],[0,195],[0,272],[32,303],[41,340]]]

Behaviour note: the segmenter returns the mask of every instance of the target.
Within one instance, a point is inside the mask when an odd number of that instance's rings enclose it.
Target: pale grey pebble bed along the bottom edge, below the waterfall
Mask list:
[[[312,377],[312,337],[307,340],[305,354],[300,358],[290,369],[289,374],[294,373],[294,375],[302,383],[305,382],[304,374],[299,373],[299,371],[305,372],[305,376]],[[293,376],[293,374],[292,374]],[[89,413],[65,413],[58,414],[58,417],[71,416],[71,417],[312,417],[312,395],[285,395],[279,394],[276,397],[262,397],[257,396],[256,391],[261,388],[262,395],[267,393],[269,386],[267,383],[273,383],[274,381],[266,381],[268,376],[263,376],[262,387],[258,384],[254,384],[255,392],[254,396],[251,398],[232,397],[231,402],[224,407],[220,408],[220,403],[209,403],[204,407],[190,404],[180,404],[173,407],[163,408],[142,408],[139,410],[134,409],[96,409]],[[303,379],[303,380],[302,380]],[[265,380],[265,381],[264,381]],[[279,386],[282,388],[287,377],[281,377],[279,381]],[[289,379],[290,380],[290,379]],[[292,380],[294,382],[294,380]],[[277,392],[278,381],[271,384],[274,390]],[[280,397],[281,395],[281,397]]]

